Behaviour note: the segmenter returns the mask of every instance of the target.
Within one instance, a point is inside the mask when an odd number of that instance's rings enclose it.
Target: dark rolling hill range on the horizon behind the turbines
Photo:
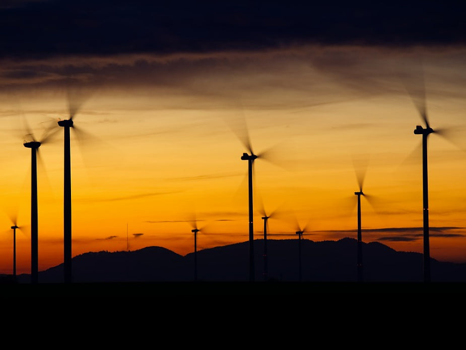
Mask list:
[[[263,244],[254,240],[255,282],[263,278]],[[249,281],[248,242],[197,251],[198,282]],[[357,240],[301,240],[302,282],[356,282]],[[364,282],[423,281],[423,255],[398,252],[381,243],[363,243]],[[466,282],[466,264],[431,258],[432,282]],[[297,282],[298,240],[268,240],[268,282]],[[5,276],[4,276],[5,277]],[[63,283],[63,264],[39,272],[39,284]],[[29,274],[17,284],[30,283]],[[136,251],[89,252],[73,258],[73,284],[126,282],[193,282],[194,254],[185,256],[162,247]],[[364,283],[362,282],[362,283]],[[361,282],[359,282],[361,284]]]

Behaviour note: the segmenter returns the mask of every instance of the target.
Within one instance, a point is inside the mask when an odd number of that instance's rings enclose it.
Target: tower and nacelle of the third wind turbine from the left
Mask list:
[[[71,250],[71,155],[70,128],[73,121],[61,120],[58,125],[64,129],[64,170],[63,170],[63,271],[64,282],[73,281],[72,250]]]

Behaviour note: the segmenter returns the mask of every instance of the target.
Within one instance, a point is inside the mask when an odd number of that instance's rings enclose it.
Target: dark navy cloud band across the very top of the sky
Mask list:
[[[0,58],[466,41],[454,1],[3,0]]]

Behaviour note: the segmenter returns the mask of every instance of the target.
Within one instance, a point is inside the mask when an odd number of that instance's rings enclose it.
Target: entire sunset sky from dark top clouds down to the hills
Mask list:
[[[39,148],[39,271],[63,262],[63,130],[73,256],[248,240],[357,238],[422,252],[429,136],[431,257],[466,263],[464,6],[23,0],[0,3],[0,273],[30,273],[31,150]],[[299,4],[299,5],[298,5]],[[454,2],[452,4],[455,4]],[[81,133],[79,133],[81,132]],[[82,137],[78,137],[81,135]],[[444,136],[444,137],[442,137]],[[367,199],[367,200],[366,200]],[[245,257],[246,259],[247,257]]]

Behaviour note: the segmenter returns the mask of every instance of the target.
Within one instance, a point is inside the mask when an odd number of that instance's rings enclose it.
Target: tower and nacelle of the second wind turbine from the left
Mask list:
[[[31,148],[31,283],[37,283],[39,276],[37,224],[37,149],[40,147],[40,142],[25,142],[23,146],[26,148]]]

